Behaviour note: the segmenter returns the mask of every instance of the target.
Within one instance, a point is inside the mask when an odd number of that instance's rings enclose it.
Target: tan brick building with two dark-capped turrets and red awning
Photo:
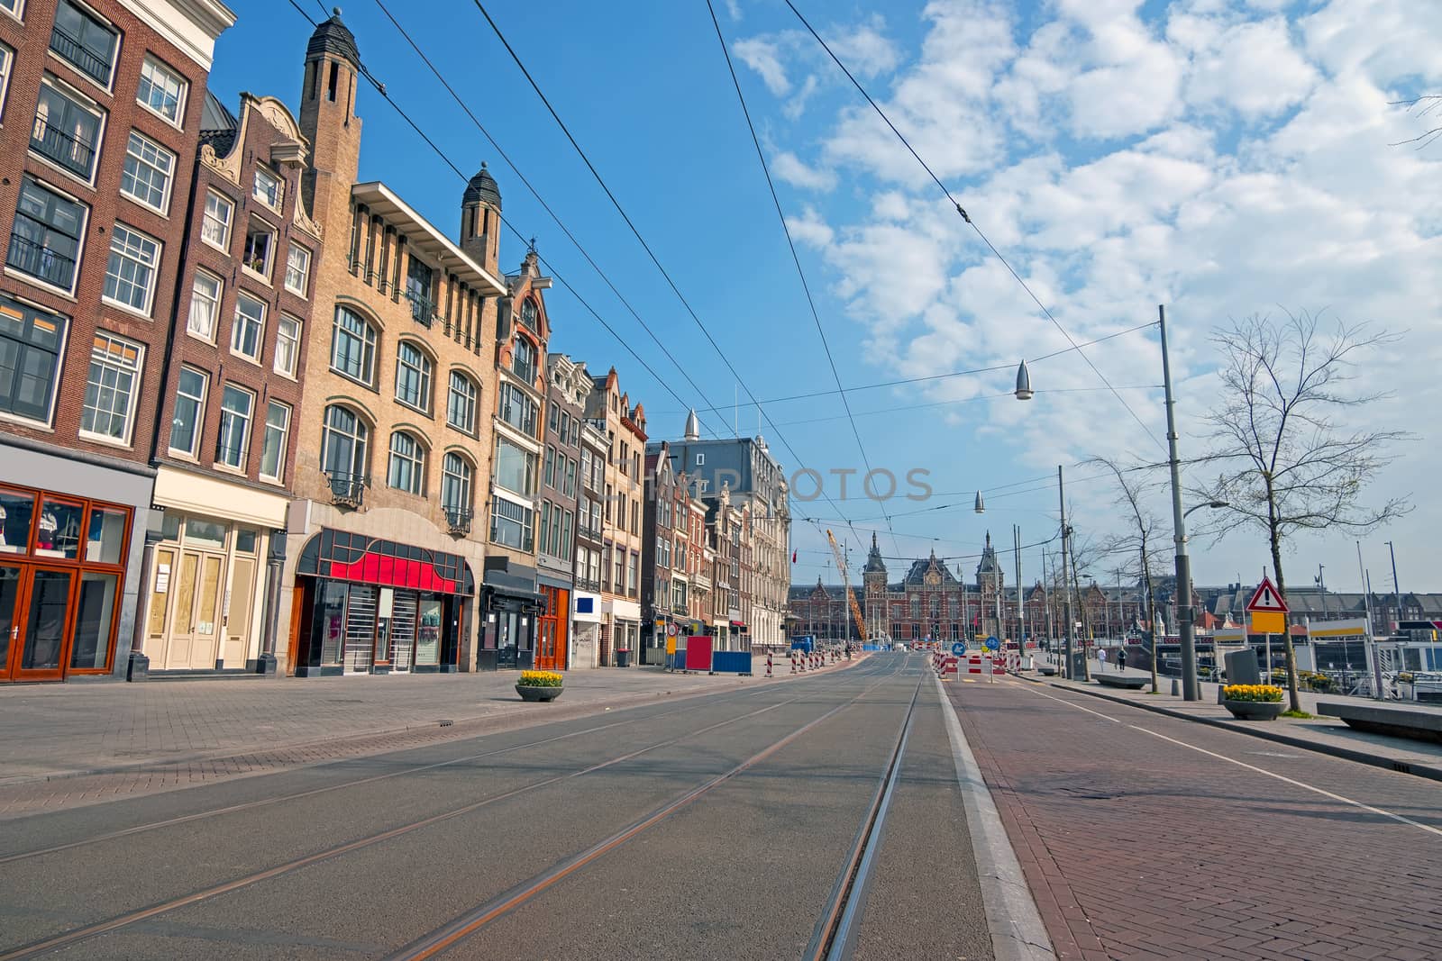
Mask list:
[[[470,670],[486,532],[499,195],[477,174],[454,242],[360,182],[360,56],[339,14],[306,48],[313,271],[284,584],[296,674]],[[480,490],[479,490],[480,488]],[[288,604],[287,604],[288,602]]]

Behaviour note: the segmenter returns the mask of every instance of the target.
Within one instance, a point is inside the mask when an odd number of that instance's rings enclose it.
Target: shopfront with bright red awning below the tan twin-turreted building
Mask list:
[[[296,676],[448,673],[476,582],[466,559],[323,527],[300,552]]]

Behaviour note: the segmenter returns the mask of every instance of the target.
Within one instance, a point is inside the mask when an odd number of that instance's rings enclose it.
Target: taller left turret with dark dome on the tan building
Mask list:
[[[311,218],[323,228],[349,218],[350,187],[360,169],[359,79],[360,50],[336,7],[310,35],[300,91],[300,133],[310,141],[311,163],[301,189]]]

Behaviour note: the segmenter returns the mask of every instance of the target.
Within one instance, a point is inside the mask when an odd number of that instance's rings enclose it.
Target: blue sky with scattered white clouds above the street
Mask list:
[[[832,344],[841,382],[868,385],[994,365],[1066,347],[1063,336],[989,256],[900,144],[779,0],[715,0],[782,205]],[[519,69],[470,3],[447,17],[386,6],[467,99],[525,176],[682,360],[708,434],[757,432],[746,390],[650,264]],[[440,4],[425,4],[433,10]],[[1080,340],[1145,324],[1167,303],[1174,328],[1182,454],[1204,447],[1197,418],[1214,398],[1208,330],[1259,311],[1328,310],[1406,330],[1405,356],[1370,357],[1364,382],[1400,380],[1406,401],[1373,408],[1417,439],[1400,450],[1377,497],[1412,493],[1417,510],[1364,543],[1380,586],[1394,539],[1403,588],[1438,588],[1430,532],[1442,513],[1428,483],[1442,468],[1430,418],[1442,360],[1436,304],[1442,150],[1390,143],[1425,130],[1389,101],[1442,89],[1442,9],[1428,0],[1048,0],[1045,3],[799,3],[923,157]],[[311,17],[314,0],[303,0]],[[624,205],[746,385],[770,399],[835,386],[790,261],[702,0],[633,9],[591,3],[489,4],[508,39]],[[293,104],[310,26],[288,3],[235,3],[212,89]],[[485,144],[394,32],[373,0],[346,6],[372,73],[467,173],[489,163],[506,216],[688,405],[708,406],[640,330]],[[362,176],[382,179],[454,233],[461,182],[373,91],[363,91]],[[503,267],[523,248],[502,242]],[[575,298],[549,294],[552,350],[614,365],[655,438],[685,411]],[[1155,330],[1087,352],[1151,432],[1164,435]],[[1155,441],[1074,353],[1032,367],[1037,398],[996,398],[1011,372],[849,395],[867,455],[898,478],[929,473],[933,499],[888,510],[962,504],[880,520],[881,506],[839,500],[832,470],[861,470],[835,396],[766,405],[767,437],[787,471],[828,478],[825,501],[795,511],[796,579],[828,572],[822,526],[855,547],[883,533],[888,556],[962,558],[986,530],[1009,545],[1056,530],[1058,462],[1089,455],[1156,460]],[[885,411],[887,414],[871,415]],[[780,442],[792,447],[790,451]],[[858,474],[859,475],[859,474]],[[1106,483],[1069,467],[1074,523],[1097,540],[1122,523]],[[1024,483],[1037,478],[1037,483]],[[989,510],[969,510],[975,490]],[[1155,509],[1165,517],[1167,501]],[[1201,584],[1253,578],[1260,537],[1194,543]],[[1040,553],[1028,552],[1028,579]],[[901,566],[893,562],[893,568]],[[968,571],[975,559],[959,560]],[[1348,537],[1298,543],[1289,579],[1327,565],[1354,589]],[[1110,563],[1096,575],[1110,581]],[[1008,565],[1009,569],[1009,565]]]

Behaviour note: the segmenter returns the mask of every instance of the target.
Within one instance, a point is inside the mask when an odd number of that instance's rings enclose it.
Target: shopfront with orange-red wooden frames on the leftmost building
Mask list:
[[[115,670],[134,514],[124,504],[0,487],[0,681]],[[128,643],[121,647],[128,653]]]

